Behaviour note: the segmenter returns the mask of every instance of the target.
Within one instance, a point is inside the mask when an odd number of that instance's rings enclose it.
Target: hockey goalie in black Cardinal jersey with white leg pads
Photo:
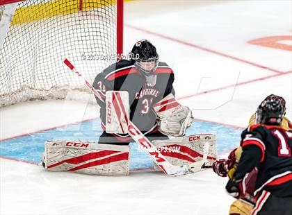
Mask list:
[[[174,73],[166,63],[159,62],[155,46],[140,40],[130,56],[129,60],[120,60],[104,69],[92,85],[98,93],[96,99],[104,130],[98,143],[47,141],[44,168],[128,175],[129,143],[134,141],[129,121],[172,165],[193,164],[203,157],[205,166],[216,161],[215,135],[185,137],[193,122],[192,112],[175,99]]]

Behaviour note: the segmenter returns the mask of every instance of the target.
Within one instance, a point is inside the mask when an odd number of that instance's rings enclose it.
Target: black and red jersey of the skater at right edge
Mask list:
[[[292,196],[292,133],[279,126],[256,124],[241,134],[243,153],[234,179],[241,181],[259,169],[254,195],[266,190],[275,196]]]

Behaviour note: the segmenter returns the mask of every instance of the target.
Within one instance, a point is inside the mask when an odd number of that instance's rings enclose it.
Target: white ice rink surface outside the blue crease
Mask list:
[[[153,42],[175,71],[177,97],[197,119],[245,127],[271,93],[286,98],[291,119],[292,75],[285,74],[292,69],[291,51],[248,44],[291,36],[291,8],[291,1],[131,1],[125,3],[124,51],[136,40]],[[6,139],[92,119],[98,109],[76,101],[33,101],[0,113],[0,139]],[[98,177],[4,158],[0,168],[0,214],[221,215],[234,200],[225,193],[227,179],[211,170],[177,178],[152,171]]]

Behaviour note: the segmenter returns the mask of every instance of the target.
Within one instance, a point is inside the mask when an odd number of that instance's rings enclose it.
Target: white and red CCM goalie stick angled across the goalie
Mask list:
[[[88,82],[88,80],[83,78],[83,76],[79,73],[79,71],[76,70],[76,68],[71,64],[69,60],[65,59],[64,63],[75,74],[77,74],[79,78],[83,79],[84,84],[92,91],[93,94],[95,94],[95,96],[97,96],[97,98],[100,98],[99,93],[96,91],[96,89],[92,87],[92,85]],[[124,106],[121,100],[119,99],[120,98],[119,92],[113,92],[113,96],[115,96],[115,98],[117,99],[117,103],[119,104],[119,106],[122,107],[121,109],[124,114],[124,117],[127,118],[127,114],[125,112],[125,109],[123,108]],[[145,150],[145,152],[152,157],[154,162],[161,168],[161,170],[165,174],[178,176],[178,175],[186,175],[190,173],[195,173],[197,171],[201,171],[202,166],[206,162],[206,157],[207,157],[206,152],[208,151],[209,144],[205,144],[204,157],[202,161],[195,162],[194,164],[191,164],[191,165],[175,166],[175,165],[170,164],[170,162],[168,162],[168,160],[165,159],[165,157],[159,152],[159,150],[156,149],[156,147],[152,144],[152,142],[149,141],[149,139],[147,139],[147,137],[145,137],[145,135],[143,135],[143,133],[140,132],[140,130],[129,119],[125,119],[125,120],[128,121],[129,123],[128,124],[129,135],[132,137],[134,141],[136,141],[138,144],[143,146],[143,149]]]

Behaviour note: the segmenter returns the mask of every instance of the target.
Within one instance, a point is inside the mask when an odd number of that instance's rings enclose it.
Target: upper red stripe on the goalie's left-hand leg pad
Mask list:
[[[73,157],[73,158],[58,162],[56,164],[52,164],[52,165],[48,166],[48,168],[53,168],[55,166],[59,166],[60,164],[64,164],[64,163],[79,164],[79,163],[82,163],[82,162],[86,162],[88,160],[92,160],[92,159],[99,158],[99,157],[104,157],[104,156],[111,155],[111,154],[114,154],[114,153],[118,153],[118,151],[115,151],[115,150],[102,150],[102,151],[95,152],[95,153],[88,153],[86,155],[81,155],[79,157]]]

